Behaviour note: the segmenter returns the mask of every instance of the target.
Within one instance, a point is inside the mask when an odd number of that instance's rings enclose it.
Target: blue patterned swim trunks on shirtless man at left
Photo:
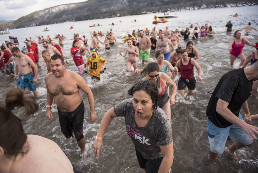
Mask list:
[[[19,75],[17,88],[21,90],[25,90],[25,88],[27,87],[29,91],[35,91],[36,84],[33,83],[33,79],[34,79],[34,73],[32,71],[27,75]]]

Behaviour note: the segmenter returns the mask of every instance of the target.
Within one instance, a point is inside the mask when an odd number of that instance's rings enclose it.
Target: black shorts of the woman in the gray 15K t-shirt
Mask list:
[[[156,173],[159,171],[159,166],[162,162],[163,157],[154,159],[154,160],[147,160],[142,157],[141,153],[135,147],[136,156],[139,162],[139,165],[142,169],[146,170],[146,173]]]

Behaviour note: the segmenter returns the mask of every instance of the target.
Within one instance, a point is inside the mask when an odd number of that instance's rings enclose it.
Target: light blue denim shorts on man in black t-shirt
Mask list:
[[[239,113],[238,118],[242,121],[243,118]],[[246,134],[243,129],[237,127],[236,125],[231,125],[226,128],[219,128],[215,126],[207,117],[207,134],[209,138],[210,150],[213,153],[222,154],[224,152],[224,147],[228,138],[230,136],[232,142],[240,142],[244,145],[250,145],[253,141],[250,139],[248,134]]]

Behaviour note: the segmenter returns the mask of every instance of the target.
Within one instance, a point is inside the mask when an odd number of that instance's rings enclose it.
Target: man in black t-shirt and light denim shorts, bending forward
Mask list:
[[[246,123],[251,122],[247,99],[255,80],[258,80],[258,63],[229,71],[214,89],[206,110],[209,158],[212,162],[217,154],[225,151],[234,156],[237,149],[251,145],[253,139],[257,139],[255,133],[258,134],[258,128]],[[245,111],[246,122],[239,113],[241,108]],[[224,148],[228,135],[233,144]]]

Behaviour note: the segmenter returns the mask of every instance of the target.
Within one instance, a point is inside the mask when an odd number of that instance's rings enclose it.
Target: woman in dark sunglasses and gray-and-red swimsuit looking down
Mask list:
[[[146,76],[148,74],[148,76]],[[159,66],[156,62],[151,62],[147,64],[146,67],[142,69],[141,72],[142,80],[149,80],[153,82],[158,87],[159,100],[158,107],[164,110],[167,114],[169,120],[171,120],[171,108],[175,104],[175,94],[176,94],[176,84],[175,82],[166,74],[159,72]],[[172,95],[168,95],[168,85],[172,86]]]

